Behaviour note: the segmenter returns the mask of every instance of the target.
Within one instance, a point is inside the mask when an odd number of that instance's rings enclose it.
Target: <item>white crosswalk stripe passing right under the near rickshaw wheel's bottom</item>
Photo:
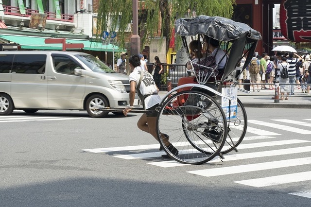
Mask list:
[[[215,163],[215,162],[226,162],[226,161],[234,161],[234,160],[241,160],[241,159],[250,159],[250,158],[258,158],[258,157],[267,157],[267,156],[276,156],[276,155],[290,155],[290,154],[297,154],[297,153],[306,153],[311,152],[311,146],[306,147],[295,147],[295,148],[286,148],[280,150],[270,150],[270,151],[262,151],[262,152],[255,152],[255,153],[242,153],[242,154],[227,154],[224,155],[225,159],[220,160],[219,157],[215,157],[210,160],[208,163]],[[161,161],[161,162],[149,162],[147,164],[155,165],[158,167],[169,168],[169,167],[176,167],[176,166],[183,166],[186,164],[178,163],[177,161]]]

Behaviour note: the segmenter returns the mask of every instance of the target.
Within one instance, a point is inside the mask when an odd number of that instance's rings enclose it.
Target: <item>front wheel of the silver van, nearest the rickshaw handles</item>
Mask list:
[[[100,107],[109,106],[107,99],[102,95],[92,95],[86,101],[86,111],[90,117],[103,118],[107,116],[109,112],[104,111],[93,111]]]

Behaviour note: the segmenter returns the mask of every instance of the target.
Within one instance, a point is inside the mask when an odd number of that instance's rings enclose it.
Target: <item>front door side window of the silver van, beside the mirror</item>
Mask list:
[[[69,57],[53,55],[53,66],[56,72],[74,75],[74,69],[81,67]]]

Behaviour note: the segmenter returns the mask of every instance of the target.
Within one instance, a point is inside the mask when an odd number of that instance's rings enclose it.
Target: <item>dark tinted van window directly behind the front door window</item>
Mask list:
[[[46,54],[16,54],[12,73],[43,74],[46,59]]]

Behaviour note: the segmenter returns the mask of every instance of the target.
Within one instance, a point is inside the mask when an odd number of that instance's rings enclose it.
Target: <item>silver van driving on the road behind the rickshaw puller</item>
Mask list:
[[[45,109],[86,110],[90,117],[108,112],[103,106],[129,104],[128,76],[94,56],[65,51],[0,52],[0,115],[14,109],[35,113]],[[138,105],[138,96],[135,103]]]

